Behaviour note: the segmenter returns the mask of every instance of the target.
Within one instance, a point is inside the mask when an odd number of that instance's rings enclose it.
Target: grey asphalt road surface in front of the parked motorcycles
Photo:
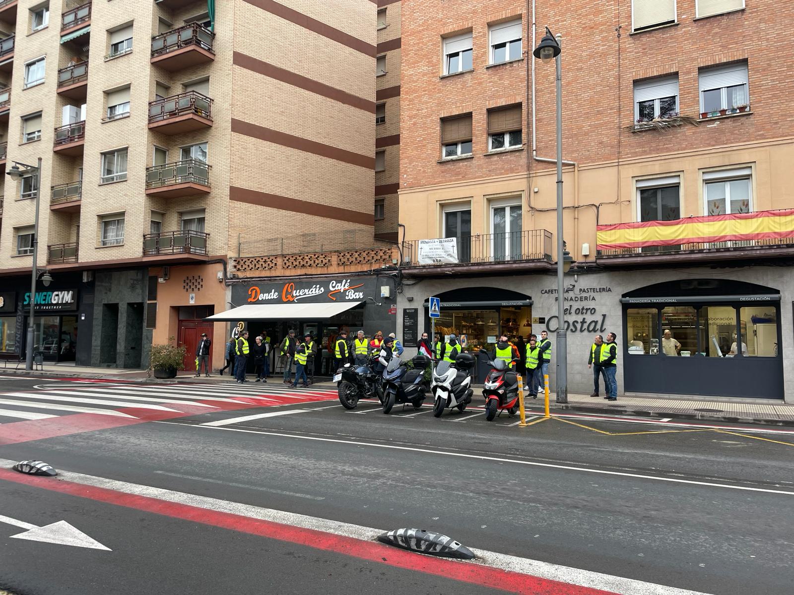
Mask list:
[[[0,382],[2,393],[42,384]],[[202,425],[293,409],[302,413]],[[366,528],[426,528],[468,547],[714,595],[791,593],[794,495],[781,492],[794,492],[794,434],[581,417],[567,419],[587,427],[519,428],[517,417],[488,423],[476,409],[416,413],[385,416],[365,401],[356,413],[338,401],[214,411],[6,444],[0,459]],[[494,592],[3,478],[0,515],[67,520],[112,550],[6,539],[20,530],[0,524],[0,589],[20,595]]]

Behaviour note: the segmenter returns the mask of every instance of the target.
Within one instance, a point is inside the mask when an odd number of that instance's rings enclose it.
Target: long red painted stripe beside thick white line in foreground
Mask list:
[[[368,562],[377,562],[387,566],[453,578],[457,581],[490,589],[499,589],[507,593],[523,593],[524,595],[529,595],[530,593],[532,595],[614,595],[610,591],[601,589],[570,585],[565,582],[538,578],[529,574],[520,574],[491,566],[431,558],[430,556],[395,549],[381,543],[274,523],[270,520],[252,519],[248,516],[218,512],[137,494],[118,492],[113,489],[87,486],[65,480],[53,480],[52,478],[20,475],[6,469],[0,469],[0,479],[106,504],[124,506],[128,509],[152,512],[153,514],[225,528],[268,539],[277,539],[287,543],[297,543],[316,550],[333,551],[337,554],[348,555]]]

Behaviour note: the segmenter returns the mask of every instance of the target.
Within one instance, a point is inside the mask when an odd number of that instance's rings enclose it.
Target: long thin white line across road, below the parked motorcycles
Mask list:
[[[348,413],[355,413],[355,412],[348,412]],[[173,421],[156,421],[155,424],[172,424],[172,425],[186,425],[180,424],[179,422]],[[619,477],[624,478],[637,478],[637,479],[650,479],[656,482],[671,482],[671,483],[684,483],[691,486],[707,486],[711,488],[727,488],[727,489],[742,489],[748,492],[763,492],[763,493],[780,493],[786,496],[794,496],[794,492],[788,492],[784,489],[769,489],[769,488],[752,488],[750,486],[731,486],[727,483],[715,483],[715,482],[696,482],[692,479],[679,479],[679,478],[663,478],[657,475],[643,475],[638,473],[627,473],[625,471],[607,471],[603,469],[589,469],[588,467],[583,466],[572,466],[572,465],[557,465],[555,463],[539,463],[538,461],[524,461],[521,459],[504,459],[502,457],[491,457],[487,455],[468,455],[464,452],[448,452],[448,451],[436,451],[430,450],[426,448],[416,448],[416,447],[403,447],[403,446],[396,446],[395,444],[378,444],[373,442],[359,442],[357,440],[340,440],[337,438],[321,438],[318,436],[300,436],[299,434],[284,434],[282,432],[268,432],[265,430],[245,430],[243,428],[208,428],[206,424],[201,425],[189,425],[188,428],[206,428],[211,430],[225,430],[227,432],[244,432],[246,434],[262,434],[264,436],[279,436],[281,438],[295,438],[298,440],[316,440],[318,442],[335,442],[340,444],[352,444],[353,446],[368,446],[368,447],[376,447],[376,448],[388,448],[395,451],[411,451],[411,452],[421,452],[422,455],[442,455],[442,456],[449,456],[449,457],[458,457],[461,459],[476,459],[480,461],[493,461],[495,463],[515,463],[516,465],[529,465],[529,466],[537,466],[537,467],[547,467],[551,469],[564,469],[567,471],[580,471],[583,473],[595,473],[601,475],[616,475]]]

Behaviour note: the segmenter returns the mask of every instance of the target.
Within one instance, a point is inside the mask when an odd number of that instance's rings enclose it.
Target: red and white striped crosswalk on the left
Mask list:
[[[214,413],[241,406],[281,406],[334,397],[335,391],[283,385],[57,382],[39,385],[36,390],[0,392],[0,425],[77,413],[131,419],[145,419],[152,413],[181,416],[186,411]]]

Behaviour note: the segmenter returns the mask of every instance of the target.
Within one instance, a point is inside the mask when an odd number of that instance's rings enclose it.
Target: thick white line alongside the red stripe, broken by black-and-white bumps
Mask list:
[[[9,467],[14,463],[16,463],[16,461],[0,459],[0,466],[2,467]],[[71,471],[64,471],[61,469],[58,471],[60,478],[68,482],[83,484],[84,486],[112,489],[116,492],[156,498],[161,501],[195,506],[197,508],[216,512],[227,512],[229,514],[245,516],[251,519],[268,520],[272,523],[312,529],[314,531],[326,532],[331,535],[345,536],[352,539],[360,539],[362,541],[372,542],[377,536],[386,532],[385,529],[343,523],[338,520],[324,519],[319,516],[308,516],[276,509],[265,509],[260,506],[241,504],[240,502],[198,496],[192,493],[176,492],[170,489],[156,488],[153,486],[120,482],[110,478],[99,478],[93,475],[72,473]],[[461,561],[459,563],[473,564],[481,568],[499,568],[501,570],[544,578],[549,581],[563,582],[569,585],[577,585],[590,589],[601,589],[607,593],[615,593],[616,595],[706,595],[706,593],[698,593],[687,589],[676,589],[675,587],[656,585],[649,582],[634,580],[633,578],[617,577],[611,574],[592,572],[591,570],[580,570],[570,566],[559,566],[549,562],[542,562],[541,560],[500,554],[495,551],[480,550],[474,547],[472,547],[471,550],[477,556],[476,560],[470,562]],[[421,562],[421,559],[418,559],[418,562]]]

